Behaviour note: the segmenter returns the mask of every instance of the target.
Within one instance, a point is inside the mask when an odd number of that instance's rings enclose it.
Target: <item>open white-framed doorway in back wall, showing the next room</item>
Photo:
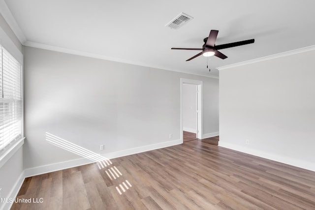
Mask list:
[[[196,138],[202,139],[202,81],[181,78],[181,140]]]

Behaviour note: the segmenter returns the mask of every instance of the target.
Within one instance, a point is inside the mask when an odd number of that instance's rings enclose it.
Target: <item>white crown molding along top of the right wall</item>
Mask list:
[[[265,60],[277,59],[277,58],[281,58],[281,57],[285,57],[285,56],[291,56],[291,55],[295,55],[295,54],[299,54],[299,53],[305,53],[305,52],[309,52],[309,51],[313,51],[313,50],[315,50],[315,45],[303,47],[303,48],[299,48],[299,49],[295,49],[295,50],[290,50],[290,51],[286,51],[283,53],[278,53],[278,54],[274,54],[274,55],[270,55],[270,56],[265,56],[265,57],[261,57],[258,59],[246,60],[243,62],[233,63],[230,65],[224,65],[224,66],[218,67],[217,69],[220,71],[220,70],[229,69],[229,68],[233,68],[233,67],[237,67],[237,66],[247,65],[250,63],[256,63],[256,62],[261,62],[261,61],[265,61]]]

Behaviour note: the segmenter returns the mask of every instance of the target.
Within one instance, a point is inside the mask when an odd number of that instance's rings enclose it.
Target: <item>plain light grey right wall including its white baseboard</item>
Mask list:
[[[315,171],[314,58],[309,51],[220,70],[219,145]]]

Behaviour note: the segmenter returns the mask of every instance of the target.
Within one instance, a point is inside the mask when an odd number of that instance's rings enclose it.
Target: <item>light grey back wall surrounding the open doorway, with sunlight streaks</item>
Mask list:
[[[27,176],[84,162],[45,141],[45,132],[108,158],[180,144],[181,77],[203,81],[203,119],[210,118],[204,132],[219,131],[218,79],[31,47],[24,52]]]

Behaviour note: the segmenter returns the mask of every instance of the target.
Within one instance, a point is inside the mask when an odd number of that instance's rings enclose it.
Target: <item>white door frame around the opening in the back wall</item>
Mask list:
[[[202,81],[181,78],[181,141],[183,136],[183,85],[191,84],[197,86],[197,138],[202,139]]]

